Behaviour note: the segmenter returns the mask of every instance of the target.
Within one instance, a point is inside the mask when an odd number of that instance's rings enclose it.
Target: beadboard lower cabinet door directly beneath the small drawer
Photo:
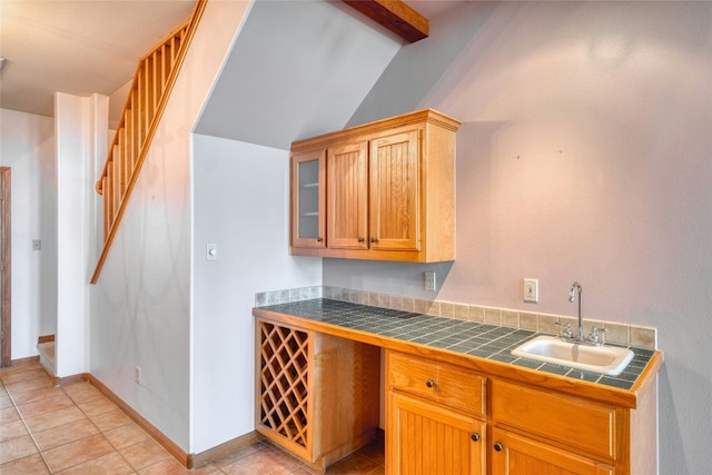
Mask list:
[[[388,474],[485,473],[485,423],[394,390],[388,400]]]

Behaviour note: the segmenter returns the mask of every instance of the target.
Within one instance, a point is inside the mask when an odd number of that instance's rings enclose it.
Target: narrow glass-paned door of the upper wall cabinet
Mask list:
[[[326,246],[326,150],[295,152],[291,156],[291,247]]]

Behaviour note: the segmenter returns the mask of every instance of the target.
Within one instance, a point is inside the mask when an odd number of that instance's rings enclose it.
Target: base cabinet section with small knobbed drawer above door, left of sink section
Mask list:
[[[395,352],[386,358],[386,472],[484,474],[486,379]]]

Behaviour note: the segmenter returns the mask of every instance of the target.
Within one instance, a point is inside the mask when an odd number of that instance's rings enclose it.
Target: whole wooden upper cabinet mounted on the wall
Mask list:
[[[435,263],[455,258],[455,132],[426,109],[291,145],[293,255]],[[323,157],[326,232],[305,232],[297,169]],[[322,158],[324,161],[324,159]]]

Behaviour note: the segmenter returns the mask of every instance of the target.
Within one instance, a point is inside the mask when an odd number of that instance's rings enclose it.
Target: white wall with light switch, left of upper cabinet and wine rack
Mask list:
[[[322,284],[320,259],[288,254],[288,151],[194,136],[197,453],[255,428],[255,294]]]

